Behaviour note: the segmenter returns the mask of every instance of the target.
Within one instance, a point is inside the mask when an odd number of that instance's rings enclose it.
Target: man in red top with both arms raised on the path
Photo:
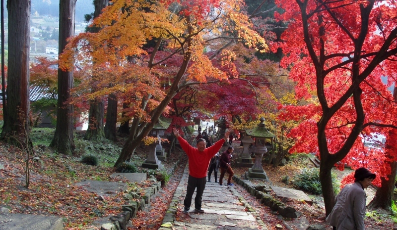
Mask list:
[[[230,132],[226,132],[224,138],[216,141],[211,147],[205,148],[206,142],[204,139],[200,138],[197,140],[197,148],[190,145],[184,138],[179,136],[177,129],[172,129],[175,137],[178,138],[182,149],[186,152],[189,157],[189,179],[188,179],[188,189],[186,191],[186,197],[183,202],[185,209],[184,213],[188,213],[190,205],[192,204],[192,196],[196,191],[195,198],[195,210],[203,213],[204,210],[201,209],[202,193],[204,192],[205,183],[207,182],[207,170],[209,161],[211,158],[219,151],[223,143],[227,141],[227,137]]]

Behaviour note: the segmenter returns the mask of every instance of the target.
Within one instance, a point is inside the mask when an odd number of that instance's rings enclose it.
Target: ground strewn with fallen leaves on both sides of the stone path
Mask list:
[[[22,162],[23,155],[19,149],[0,142],[0,164],[4,169],[0,170],[0,207],[6,207],[12,213],[25,213],[37,215],[56,215],[64,219],[64,227],[67,230],[77,229],[98,229],[93,222],[102,217],[118,214],[116,207],[124,202],[123,193],[119,193],[112,199],[99,201],[96,194],[83,190],[74,184],[85,179],[112,181],[110,175],[115,172],[113,164],[118,158],[124,139],[120,138],[118,142],[104,141],[100,144],[94,144],[82,141],[84,132],[76,132],[77,152],[74,156],[64,156],[58,154],[48,147],[53,137],[54,129],[33,129],[32,141],[35,146],[35,157],[39,157],[44,165],[33,161],[30,185],[25,185],[25,173]],[[241,152],[239,141],[234,141],[235,152],[233,155]],[[167,149],[167,144],[164,145]],[[225,148],[225,147],[223,147]],[[43,150],[44,149],[44,150]],[[143,145],[136,149],[134,162],[140,165],[146,158],[147,148]],[[96,154],[99,157],[98,166],[85,165],[80,162],[82,154]],[[182,157],[180,157],[182,154]],[[299,154],[291,157],[287,165],[273,168],[271,165],[264,163],[264,170],[269,177],[270,182],[276,186],[294,188],[292,184],[284,184],[282,179],[288,175],[292,180],[296,174],[305,168],[313,168],[313,163],[309,160],[311,155]],[[33,158],[33,157],[32,157]],[[149,208],[145,211],[139,211],[137,217],[132,219],[129,230],[156,230],[159,228],[165,215],[167,207],[171,202],[172,196],[182,177],[182,173],[187,162],[187,157],[180,148],[171,154],[167,162],[163,162],[166,169],[174,166],[177,160],[181,164],[170,175],[169,182],[163,187],[162,191],[152,199]],[[68,171],[71,167],[76,173]],[[147,170],[138,167],[140,172]],[[236,176],[242,176],[247,168],[233,168]],[[336,171],[337,178],[340,181],[343,176],[350,173],[351,170]],[[150,174],[151,172],[148,172]],[[261,184],[262,181],[251,180],[253,184]],[[150,186],[148,181],[143,183],[130,183],[130,190],[139,191],[140,189]],[[269,220],[276,221],[276,215],[263,204],[260,204],[254,196],[251,196],[245,189],[236,185],[236,189],[245,197],[250,205],[261,213],[264,223]],[[367,202],[372,199],[375,188],[367,189]],[[324,202],[320,195],[310,195],[313,199],[313,205],[302,204],[299,201],[289,200],[288,205],[294,206],[297,211],[301,212],[310,224],[322,224],[327,226],[323,221],[325,217]],[[396,218],[385,210],[367,210],[365,225],[367,230],[393,230],[397,228]],[[273,229],[272,226],[268,229]],[[287,228],[285,226],[285,228]],[[292,228],[294,229],[294,228]]]

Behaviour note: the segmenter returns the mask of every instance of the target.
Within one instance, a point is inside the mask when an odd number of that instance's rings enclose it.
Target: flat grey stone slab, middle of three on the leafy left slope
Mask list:
[[[91,181],[84,180],[76,183],[77,186],[82,186],[90,192],[95,192],[98,196],[114,196],[118,192],[127,189],[128,185],[121,182],[106,182],[106,181]]]

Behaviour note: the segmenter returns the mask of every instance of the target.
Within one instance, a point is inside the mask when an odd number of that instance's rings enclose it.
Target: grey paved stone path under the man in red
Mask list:
[[[207,182],[202,196],[202,209],[205,213],[198,213],[194,209],[196,192],[193,195],[192,207],[189,214],[184,214],[183,201],[189,177],[189,164],[186,166],[181,182],[174,194],[178,198],[178,211],[174,230],[266,230],[266,226],[256,212],[251,209],[248,202],[244,200],[234,186],[219,185]],[[238,186],[238,185],[237,185]],[[160,228],[160,230],[165,228]]]

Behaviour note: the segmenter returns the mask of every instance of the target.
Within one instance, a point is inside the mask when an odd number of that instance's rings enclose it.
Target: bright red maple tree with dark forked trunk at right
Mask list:
[[[387,88],[396,81],[396,1],[277,1],[280,20],[289,21],[281,47],[282,66],[297,82],[296,96],[316,98],[289,106],[286,119],[305,118],[291,135],[291,151],[317,152],[327,215],[334,205],[331,168],[348,163],[367,167],[380,178],[391,173],[383,151],[364,146],[372,135],[397,128],[396,103]],[[275,49],[274,49],[275,50]],[[387,76],[386,81],[382,79]],[[393,140],[394,142],[396,140]],[[395,143],[394,143],[395,145]],[[350,182],[352,176],[345,183]]]

